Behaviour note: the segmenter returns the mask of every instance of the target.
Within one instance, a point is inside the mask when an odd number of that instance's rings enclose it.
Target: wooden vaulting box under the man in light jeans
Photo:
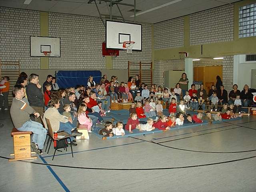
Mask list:
[[[31,146],[30,146],[31,134],[32,134],[31,131],[19,131],[16,128],[12,129],[11,136],[13,137],[14,153],[10,154],[10,156],[14,156],[14,158],[9,159],[9,162],[37,158],[37,157],[31,156],[31,154],[36,153],[36,152],[31,152]]]

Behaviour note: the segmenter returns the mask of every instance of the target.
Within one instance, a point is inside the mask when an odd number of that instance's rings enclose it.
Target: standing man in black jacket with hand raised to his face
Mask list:
[[[29,105],[40,114],[44,115],[44,95],[42,94],[42,87],[39,84],[38,74],[30,74],[29,83],[26,88],[26,94],[28,97]],[[35,119],[36,122],[41,122],[39,118]]]

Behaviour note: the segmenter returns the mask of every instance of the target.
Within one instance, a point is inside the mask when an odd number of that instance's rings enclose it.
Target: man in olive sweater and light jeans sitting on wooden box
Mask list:
[[[15,95],[10,109],[12,122],[17,130],[31,131],[33,133],[32,149],[37,154],[42,155],[47,131],[43,128],[42,124],[30,120],[29,117],[30,114],[34,114],[38,118],[40,114],[22,100],[25,96],[23,85],[15,85],[12,92]]]

